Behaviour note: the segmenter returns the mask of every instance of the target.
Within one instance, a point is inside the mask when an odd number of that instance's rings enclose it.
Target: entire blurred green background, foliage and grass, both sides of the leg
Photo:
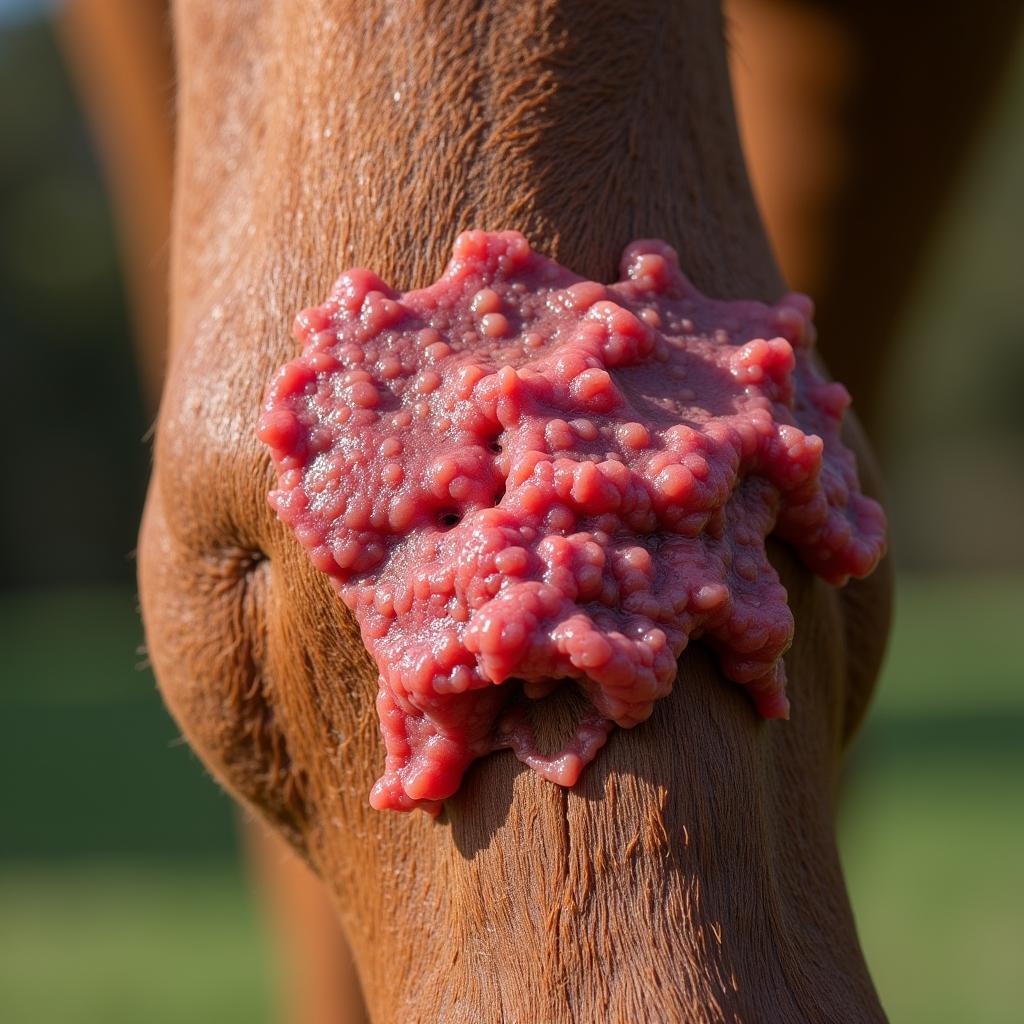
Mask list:
[[[139,653],[148,424],[39,7],[0,0],[0,1021],[270,1021],[233,809]],[[1022,125],[1024,58],[930,256],[880,439],[899,598],[842,844],[894,1022],[1024,1019]]]

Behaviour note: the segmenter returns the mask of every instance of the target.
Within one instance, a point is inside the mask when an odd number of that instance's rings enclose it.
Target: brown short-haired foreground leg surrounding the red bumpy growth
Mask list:
[[[759,720],[696,645],[674,694],[573,790],[505,753],[437,821],[380,814],[366,802],[376,673],[268,508],[254,433],[297,309],[350,265],[422,287],[465,227],[518,228],[597,280],[631,239],[660,237],[708,294],[781,294],[715,5],[413,3],[385,17],[225,0],[175,18],[147,643],[196,750],[329,884],[373,1019],[884,1019],[834,826],[887,632],[885,567],[838,591],[772,549],[797,621],[787,724]],[[551,698],[542,740],[557,745],[578,714]]]

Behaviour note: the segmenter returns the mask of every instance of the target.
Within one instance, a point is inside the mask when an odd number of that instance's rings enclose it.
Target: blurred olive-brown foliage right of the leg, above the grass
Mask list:
[[[894,550],[914,568],[1024,568],[1024,46],[929,254],[888,381]]]

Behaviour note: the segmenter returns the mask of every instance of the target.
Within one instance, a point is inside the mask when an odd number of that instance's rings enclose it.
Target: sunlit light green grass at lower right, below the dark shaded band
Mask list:
[[[861,769],[841,840],[861,941],[894,1024],[1018,1024],[1024,759]]]

